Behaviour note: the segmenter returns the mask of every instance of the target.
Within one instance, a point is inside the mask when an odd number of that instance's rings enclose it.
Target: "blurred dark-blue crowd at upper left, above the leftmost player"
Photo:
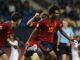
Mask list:
[[[4,20],[10,20],[13,12],[22,14],[22,24],[25,24],[34,14],[35,9],[32,8],[28,1],[23,0],[2,0],[0,1],[0,16]]]

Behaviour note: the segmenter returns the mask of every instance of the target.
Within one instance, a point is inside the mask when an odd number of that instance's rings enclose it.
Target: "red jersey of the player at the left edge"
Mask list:
[[[0,30],[0,48],[4,46],[5,41],[13,32],[11,25],[12,23],[10,21],[0,24],[0,26],[2,26],[2,29]]]

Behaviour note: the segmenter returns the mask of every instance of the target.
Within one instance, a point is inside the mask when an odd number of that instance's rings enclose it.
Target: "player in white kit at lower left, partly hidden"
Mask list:
[[[17,37],[14,35],[10,36],[10,39],[7,39],[10,46],[11,46],[11,53],[9,60],[18,60],[19,58],[19,46],[18,46],[18,41]]]

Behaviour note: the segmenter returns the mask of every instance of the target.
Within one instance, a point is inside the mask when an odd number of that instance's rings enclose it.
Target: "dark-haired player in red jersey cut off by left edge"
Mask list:
[[[21,21],[21,14],[14,13],[11,21],[6,21],[0,24],[0,60],[8,60],[5,54],[4,44],[10,35],[13,34],[13,27],[17,26]]]

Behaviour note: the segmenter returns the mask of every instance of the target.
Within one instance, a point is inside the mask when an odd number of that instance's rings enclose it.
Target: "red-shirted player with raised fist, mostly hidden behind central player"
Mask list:
[[[36,13],[35,16],[33,16],[29,21],[31,22],[36,16],[40,16],[40,18],[49,18],[49,16],[45,13]],[[27,23],[27,24],[28,24]],[[38,26],[38,25],[37,25]],[[26,42],[26,46],[28,45],[28,48],[25,49],[25,53],[24,56],[22,58],[22,60],[29,60],[29,58],[32,56],[32,60],[42,60],[42,52],[38,47],[38,40],[37,40],[37,34],[39,33],[37,31],[37,26],[36,28],[33,30],[33,32],[31,33],[28,41]],[[36,45],[35,45],[36,44]],[[35,47],[34,47],[35,46]],[[37,47],[37,49],[36,49]],[[36,50],[35,50],[36,49]],[[35,51],[33,51],[35,50]],[[31,53],[32,52],[32,53]]]

